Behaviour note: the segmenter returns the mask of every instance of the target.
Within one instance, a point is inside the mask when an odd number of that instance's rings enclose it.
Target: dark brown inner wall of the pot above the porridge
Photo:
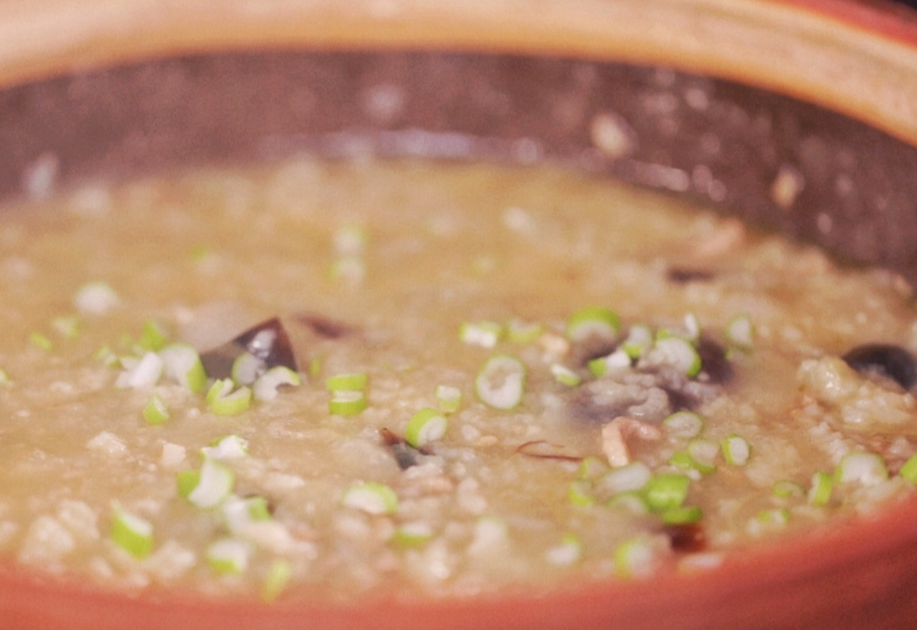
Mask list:
[[[149,61],[0,93],[0,195],[208,161],[553,160],[917,281],[917,149],[790,97],[613,62],[430,52]]]

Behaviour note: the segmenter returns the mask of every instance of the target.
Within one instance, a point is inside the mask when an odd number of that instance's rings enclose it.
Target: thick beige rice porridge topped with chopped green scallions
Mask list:
[[[110,588],[628,580],[917,483],[903,282],[565,171],[88,185],[0,304],[0,555]]]

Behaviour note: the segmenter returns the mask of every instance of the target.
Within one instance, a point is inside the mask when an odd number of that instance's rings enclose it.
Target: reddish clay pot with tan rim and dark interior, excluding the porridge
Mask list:
[[[917,17],[891,5],[7,0],[0,87],[6,196],[39,169],[65,183],[304,149],[556,160],[917,280]],[[0,627],[21,630],[839,630],[915,617],[917,502],[717,569],[537,596],[133,599],[0,570]]]

